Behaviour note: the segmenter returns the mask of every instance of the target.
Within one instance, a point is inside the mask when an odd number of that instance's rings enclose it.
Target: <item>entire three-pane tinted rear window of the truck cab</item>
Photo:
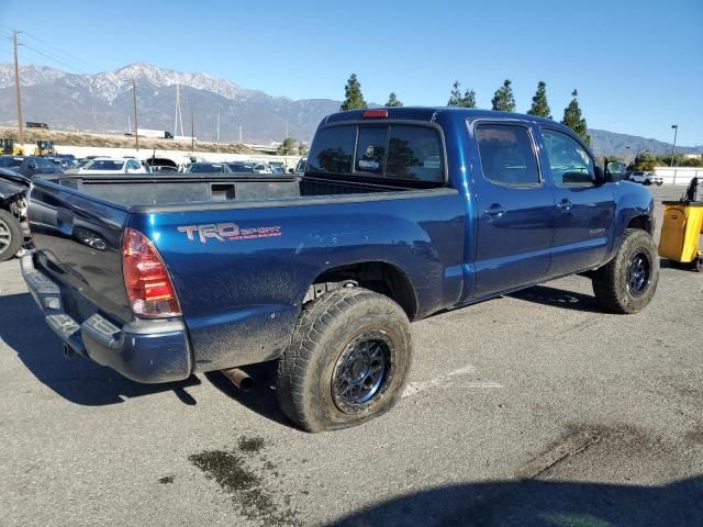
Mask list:
[[[349,124],[317,132],[308,172],[444,183],[444,150],[436,128],[414,124]]]

